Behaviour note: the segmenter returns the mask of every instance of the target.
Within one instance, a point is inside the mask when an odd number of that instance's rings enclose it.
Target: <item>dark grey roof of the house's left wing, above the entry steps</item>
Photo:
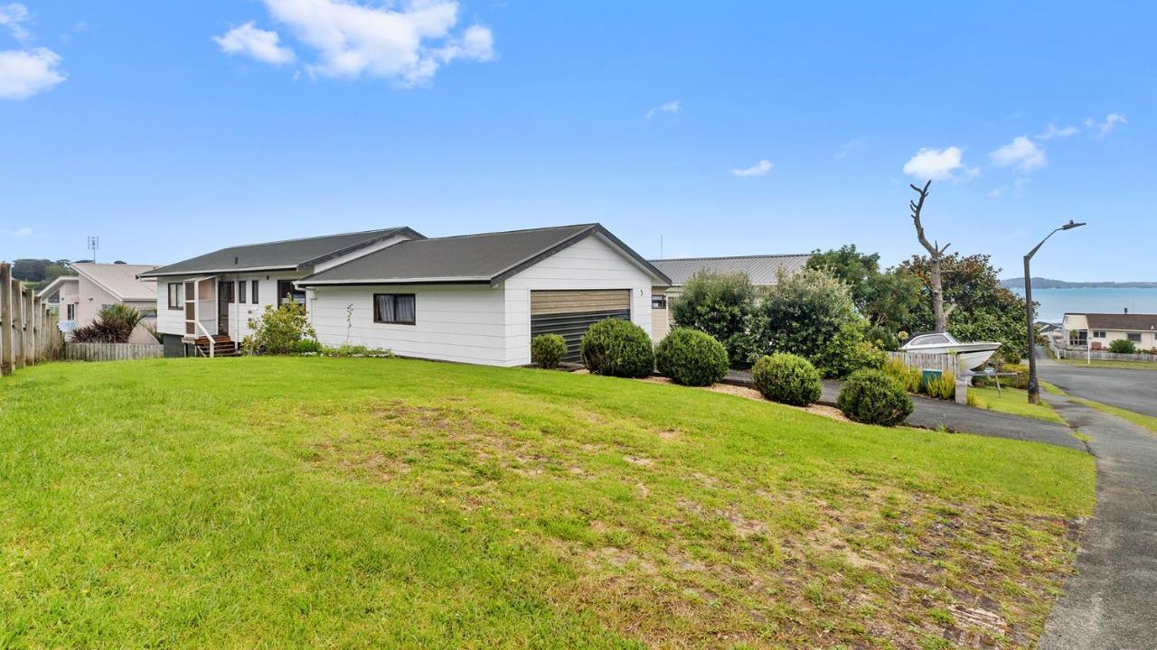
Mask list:
[[[233,273],[236,271],[300,269],[342,256],[395,235],[421,237],[410,228],[383,228],[303,239],[285,239],[221,249],[184,261],[141,273],[140,278],[189,275],[191,273]]]

